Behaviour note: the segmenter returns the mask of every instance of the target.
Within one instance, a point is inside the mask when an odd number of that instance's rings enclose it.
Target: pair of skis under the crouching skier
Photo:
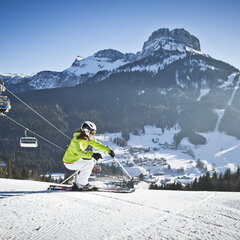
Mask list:
[[[106,187],[106,188],[97,188],[93,187],[91,189],[74,189],[72,186],[66,185],[50,185],[48,187],[50,191],[72,191],[72,192],[112,192],[112,193],[132,193],[135,189],[124,188],[124,187]]]

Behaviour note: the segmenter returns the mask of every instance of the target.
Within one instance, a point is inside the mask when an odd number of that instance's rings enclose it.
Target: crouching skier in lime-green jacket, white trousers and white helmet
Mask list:
[[[69,170],[78,170],[74,188],[91,189],[92,185],[88,183],[88,178],[91,175],[95,163],[102,158],[100,153],[88,151],[87,147],[90,145],[98,150],[101,150],[111,157],[115,157],[114,151],[96,141],[93,136],[97,131],[96,125],[90,121],[85,121],[74,135],[68,149],[63,157],[63,163]]]

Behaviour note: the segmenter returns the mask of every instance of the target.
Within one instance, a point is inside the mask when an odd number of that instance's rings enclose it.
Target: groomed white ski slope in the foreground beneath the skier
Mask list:
[[[54,192],[0,179],[0,239],[240,239],[240,193]]]

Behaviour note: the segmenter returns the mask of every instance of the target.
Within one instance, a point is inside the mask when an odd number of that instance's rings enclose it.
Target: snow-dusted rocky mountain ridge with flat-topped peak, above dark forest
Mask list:
[[[123,54],[105,49],[87,58],[77,57],[73,64],[62,72],[42,71],[34,75],[0,74],[6,87],[15,92],[38,89],[71,87],[88,82],[103,81],[116,72],[148,71],[156,74],[172,63],[187,56],[205,56],[199,40],[184,29],[159,29],[144,43],[142,51]],[[201,63],[203,68],[208,68]],[[214,68],[214,66],[210,66]],[[100,74],[99,74],[100,73]]]

